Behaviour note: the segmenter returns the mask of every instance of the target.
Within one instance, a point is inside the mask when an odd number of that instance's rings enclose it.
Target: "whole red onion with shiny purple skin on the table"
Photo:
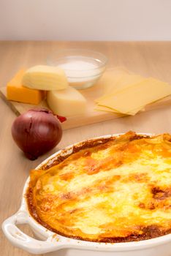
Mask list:
[[[58,118],[45,108],[31,109],[15,118],[11,132],[15,143],[31,160],[50,151],[62,137]]]

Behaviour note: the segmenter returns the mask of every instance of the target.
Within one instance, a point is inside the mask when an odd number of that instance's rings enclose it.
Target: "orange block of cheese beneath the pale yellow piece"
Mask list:
[[[18,73],[7,83],[7,99],[16,102],[23,102],[38,105],[45,97],[45,91],[28,89],[22,86],[22,78],[25,73],[24,69],[20,69]]]

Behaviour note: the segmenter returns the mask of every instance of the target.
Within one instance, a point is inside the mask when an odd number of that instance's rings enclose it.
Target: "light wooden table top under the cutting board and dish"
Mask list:
[[[0,42],[0,83],[4,86],[20,67],[45,64],[53,50],[63,48],[89,48],[106,54],[109,66],[122,65],[140,75],[153,76],[171,84],[171,42]],[[118,118],[86,127],[64,131],[61,143],[39,159],[26,159],[11,137],[15,114],[0,99],[0,212],[1,222],[14,214],[20,206],[23,185],[29,170],[59,148],[79,140],[134,130],[136,132],[171,132],[171,106]],[[22,227],[31,234],[28,227]],[[15,248],[1,233],[1,256],[30,255]]]

